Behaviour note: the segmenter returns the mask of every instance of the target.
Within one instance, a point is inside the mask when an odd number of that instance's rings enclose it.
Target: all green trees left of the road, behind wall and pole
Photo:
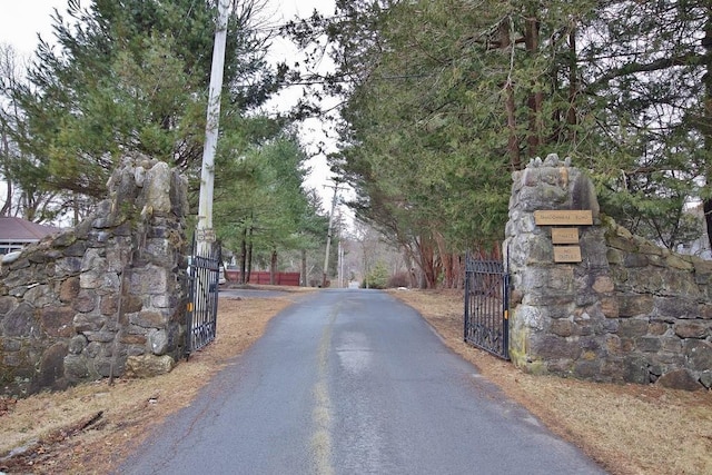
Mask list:
[[[263,28],[264,7],[230,9],[215,169],[217,236],[243,269],[318,248],[327,222],[303,187],[307,157],[291,121],[260,113],[285,73],[265,59],[276,30]],[[132,154],[180,169],[197,209],[216,16],[214,1],[70,0],[31,62],[3,46],[3,214],[47,221],[70,208],[79,222]]]

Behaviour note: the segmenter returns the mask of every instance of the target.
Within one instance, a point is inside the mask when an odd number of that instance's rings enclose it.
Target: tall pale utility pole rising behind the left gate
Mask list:
[[[205,147],[202,149],[202,169],[200,171],[200,199],[198,201],[198,226],[196,240],[201,253],[207,251],[208,243],[215,241],[212,229],[212,187],[215,182],[215,149],[218,144],[220,122],[220,91],[222,90],[222,70],[225,69],[225,42],[227,39],[227,16],[229,0],[217,0],[218,21],[212,46],[212,67],[210,69],[210,91],[205,127]]]

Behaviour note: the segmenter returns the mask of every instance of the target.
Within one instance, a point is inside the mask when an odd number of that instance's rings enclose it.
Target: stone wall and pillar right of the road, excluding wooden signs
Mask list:
[[[513,175],[504,250],[511,356],[537,374],[712,387],[712,261],[633,236],[601,215],[593,185],[556,156]],[[583,210],[582,260],[554,263],[536,210]]]

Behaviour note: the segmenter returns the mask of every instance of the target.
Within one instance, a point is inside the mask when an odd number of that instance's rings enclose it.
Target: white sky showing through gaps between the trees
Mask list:
[[[88,0],[81,0],[82,4],[89,4]],[[269,13],[268,22],[281,24],[295,16],[308,17],[314,10],[330,16],[334,13],[334,0],[267,0],[266,11]],[[22,55],[28,57],[37,47],[37,34],[40,33],[44,40],[52,40],[53,9],[65,13],[67,0],[0,0],[0,43],[9,43]],[[295,51],[286,49],[284,44],[278,44],[274,51],[275,59],[294,58]],[[285,96],[280,96],[278,102],[283,105],[293,103],[299,90],[291,90]],[[322,126],[317,121],[308,121],[303,127],[303,136],[306,142],[324,140],[320,132]],[[309,161],[312,174],[306,186],[315,188],[322,196],[324,208],[328,209],[332,200],[332,190],[325,188],[328,182],[329,170],[326,157],[315,157]],[[0,194],[2,190],[0,182]],[[2,195],[0,195],[2,196]]]

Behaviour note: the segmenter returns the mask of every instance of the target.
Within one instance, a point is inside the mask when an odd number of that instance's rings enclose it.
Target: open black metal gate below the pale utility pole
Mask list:
[[[186,358],[215,339],[218,315],[220,245],[211,243],[200,251],[192,241],[188,257],[190,295],[187,311]]]

